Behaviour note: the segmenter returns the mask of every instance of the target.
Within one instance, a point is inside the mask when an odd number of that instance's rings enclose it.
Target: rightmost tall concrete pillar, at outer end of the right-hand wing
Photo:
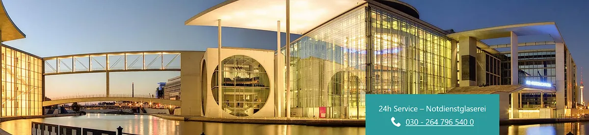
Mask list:
[[[566,84],[564,83],[564,55],[565,55],[565,47],[564,43],[557,42],[556,43],[556,114],[557,117],[564,115],[565,111],[565,92],[564,88]]]

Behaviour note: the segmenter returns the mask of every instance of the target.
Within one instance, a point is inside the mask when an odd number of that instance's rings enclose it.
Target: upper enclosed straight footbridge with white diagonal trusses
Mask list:
[[[125,51],[45,57],[43,75],[180,71],[183,52],[198,51]]]

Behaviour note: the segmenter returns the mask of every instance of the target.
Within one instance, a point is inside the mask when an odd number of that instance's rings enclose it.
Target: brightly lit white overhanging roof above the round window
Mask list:
[[[345,12],[365,4],[364,0],[290,0],[290,32],[305,34]],[[286,0],[229,0],[188,19],[186,25],[286,31]]]

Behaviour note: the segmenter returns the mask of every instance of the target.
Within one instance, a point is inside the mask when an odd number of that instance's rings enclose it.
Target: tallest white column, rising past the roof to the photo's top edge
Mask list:
[[[290,0],[286,0],[286,118],[290,118]]]

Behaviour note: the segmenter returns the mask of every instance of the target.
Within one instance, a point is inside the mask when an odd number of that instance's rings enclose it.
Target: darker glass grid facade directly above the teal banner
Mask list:
[[[371,8],[371,94],[438,94],[454,73],[451,42],[444,34]]]

